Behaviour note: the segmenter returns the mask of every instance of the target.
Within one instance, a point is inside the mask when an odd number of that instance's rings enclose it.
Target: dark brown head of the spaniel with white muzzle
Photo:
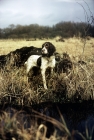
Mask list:
[[[42,55],[43,56],[52,56],[54,54],[54,52],[56,51],[55,49],[55,46],[50,43],[50,42],[45,42],[43,45],[42,45]]]

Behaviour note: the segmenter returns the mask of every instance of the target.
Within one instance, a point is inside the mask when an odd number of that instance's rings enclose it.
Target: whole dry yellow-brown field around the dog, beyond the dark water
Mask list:
[[[7,71],[2,69],[0,73],[2,100],[7,97],[6,102],[8,100],[11,102],[11,97],[13,97],[17,98],[17,104],[23,104],[23,102],[24,104],[26,102],[32,104],[45,102],[49,99],[53,102],[64,102],[66,98],[71,99],[71,101],[94,98],[94,38],[82,39],[74,37],[64,39],[63,42],[57,40],[58,37],[52,40],[37,39],[36,41],[0,40],[1,55],[8,54],[10,51],[23,46],[41,47],[44,42],[50,41],[56,46],[56,51],[61,54],[61,57],[64,52],[67,52],[73,62],[73,69],[69,75],[55,73],[48,79],[47,91],[41,87],[42,81],[40,77],[34,77],[31,85],[27,84],[25,68],[8,68]],[[84,61],[86,65],[78,65],[79,60]],[[59,93],[59,98],[57,98],[57,93]],[[24,100],[24,98],[26,99]]]

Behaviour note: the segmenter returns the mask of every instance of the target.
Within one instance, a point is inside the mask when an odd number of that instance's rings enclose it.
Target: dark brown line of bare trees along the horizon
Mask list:
[[[84,22],[59,22],[52,27],[38,24],[14,25],[0,28],[0,39],[31,39],[69,37],[94,37],[94,25]]]

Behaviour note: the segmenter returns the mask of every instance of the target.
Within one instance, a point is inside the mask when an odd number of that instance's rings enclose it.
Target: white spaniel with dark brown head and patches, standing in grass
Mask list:
[[[51,68],[51,74],[55,67],[55,46],[50,42],[45,42],[42,45],[41,55],[31,55],[25,62],[27,74],[33,67],[39,67],[41,69],[44,88],[47,89],[45,72],[48,67]],[[41,63],[40,63],[41,62]]]

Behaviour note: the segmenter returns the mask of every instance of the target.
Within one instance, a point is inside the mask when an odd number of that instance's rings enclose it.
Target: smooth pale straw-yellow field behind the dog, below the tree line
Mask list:
[[[57,42],[56,41],[57,38],[36,40],[36,41],[26,41],[25,39],[24,40],[12,40],[12,39],[0,40],[0,54],[1,55],[7,54],[10,51],[14,51],[15,49],[19,49],[23,46],[41,47],[44,42],[50,41],[55,45],[56,50],[59,53],[67,52],[72,56],[82,55],[84,42],[85,42],[84,39],[74,37],[74,38],[64,39],[64,42]],[[84,55],[85,56],[94,55],[94,38],[90,38],[89,40],[86,40]]]

